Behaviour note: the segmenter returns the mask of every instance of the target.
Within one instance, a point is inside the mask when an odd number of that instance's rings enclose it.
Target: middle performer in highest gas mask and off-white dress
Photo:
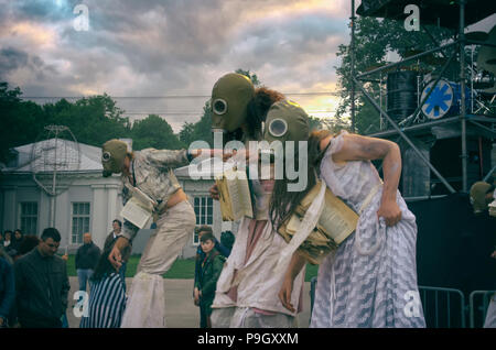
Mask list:
[[[249,141],[261,141],[263,121],[273,106],[284,103],[284,96],[268,88],[255,89],[239,74],[227,74],[212,92],[213,129],[224,132],[225,140],[238,140],[248,149]],[[303,112],[304,113],[304,112]],[[308,136],[308,118],[300,125]],[[238,152],[236,156],[248,157]],[[278,298],[282,275],[274,275],[278,252],[287,245],[273,230],[268,217],[268,203],[273,179],[251,178],[256,197],[255,218],[239,222],[231,253],[226,261],[212,305],[213,327],[294,327],[296,311],[285,309]],[[218,199],[216,186],[211,189]],[[296,277],[292,302],[301,305],[304,273]]]

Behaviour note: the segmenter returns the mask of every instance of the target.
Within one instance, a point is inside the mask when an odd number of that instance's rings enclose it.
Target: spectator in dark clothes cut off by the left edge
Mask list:
[[[9,327],[9,321],[13,321],[15,280],[11,263],[10,256],[0,247],[0,328]]]

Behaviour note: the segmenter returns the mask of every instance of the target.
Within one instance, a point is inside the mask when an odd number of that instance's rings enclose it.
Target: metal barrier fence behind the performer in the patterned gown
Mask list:
[[[315,299],[316,277],[310,282],[310,317]],[[484,326],[490,297],[495,291],[474,291],[468,305],[462,291],[443,287],[419,286],[423,316],[428,328],[466,328],[467,314],[470,328]]]

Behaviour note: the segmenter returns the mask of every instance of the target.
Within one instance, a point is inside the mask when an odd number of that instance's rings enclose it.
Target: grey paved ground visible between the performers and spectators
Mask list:
[[[76,303],[72,297],[78,288],[77,277],[69,277],[69,308],[67,318],[71,328],[79,327],[79,318],[73,314],[72,306]],[[132,278],[126,278],[128,291]],[[165,320],[171,328],[196,328],[200,325],[200,310],[193,304],[193,280],[164,280],[165,286]],[[310,319],[310,283],[303,289],[303,313],[299,315],[299,326],[308,327]]]

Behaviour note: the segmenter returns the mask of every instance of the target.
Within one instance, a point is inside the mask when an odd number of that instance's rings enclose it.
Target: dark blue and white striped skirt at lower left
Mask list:
[[[119,328],[125,308],[123,281],[111,273],[91,285],[88,316],[82,317],[79,328]]]

